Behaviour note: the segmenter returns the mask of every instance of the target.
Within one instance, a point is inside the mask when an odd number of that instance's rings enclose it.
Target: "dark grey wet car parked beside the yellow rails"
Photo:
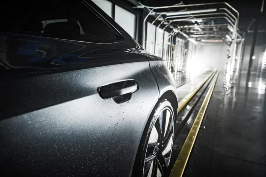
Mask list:
[[[162,176],[178,108],[165,61],[89,0],[0,8],[1,175]]]

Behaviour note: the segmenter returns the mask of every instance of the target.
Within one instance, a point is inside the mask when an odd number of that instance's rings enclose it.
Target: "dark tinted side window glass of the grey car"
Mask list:
[[[116,32],[82,1],[48,0],[0,8],[1,31],[87,42],[118,39]]]

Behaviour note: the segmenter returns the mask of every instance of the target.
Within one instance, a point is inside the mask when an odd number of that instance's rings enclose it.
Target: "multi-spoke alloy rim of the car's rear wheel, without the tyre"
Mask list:
[[[160,177],[167,171],[173,147],[173,118],[168,106],[155,113],[146,137],[143,177]]]

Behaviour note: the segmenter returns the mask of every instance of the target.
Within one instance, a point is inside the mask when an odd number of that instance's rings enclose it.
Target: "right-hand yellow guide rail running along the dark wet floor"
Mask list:
[[[186,167],[186,163],[189,159],[189,155],[192,151],[194,142],[196,140],[197,134],[200,130],[200,124],[202,122],[202,119],[204,117],[204,114],[206,112],[207,106],[210,102],[210,98],[211,95],[213,93],[214,87],[215,87],[215,83],[217,81],[219,73],[217,74],[216,78],[214,79],[213,83],[210,86],[210,89],[207,92],[207,95],[200,107],[200,111],[197,114],[197,117],[189,131],[188,136],[186,137],[186,140],[184,142],[184,145],[176,159],[176,162],[173,166],[173,169],[170,173],[170,177],[181,177],[184,173],[185,167]]]

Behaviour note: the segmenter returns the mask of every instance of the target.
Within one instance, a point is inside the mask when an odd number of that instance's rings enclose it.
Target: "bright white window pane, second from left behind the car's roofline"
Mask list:
[[[115,21],[118,23],[130,36],[135,38],[136,33],[136,15],[127,10],[115,6]]]

